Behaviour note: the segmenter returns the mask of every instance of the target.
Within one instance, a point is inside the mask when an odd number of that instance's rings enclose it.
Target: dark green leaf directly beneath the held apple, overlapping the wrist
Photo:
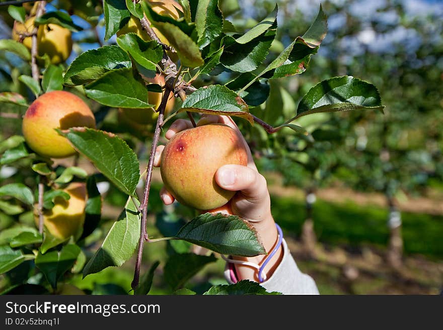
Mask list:
[[[201,214],[183,226],[175,238],[227,255],[266,253],[254,228],[236,215]]]

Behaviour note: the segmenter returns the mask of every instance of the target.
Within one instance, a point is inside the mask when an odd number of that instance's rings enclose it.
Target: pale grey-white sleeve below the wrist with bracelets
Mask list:
[[[311,276],[304,274],[297,267],[296,261],[291,256],[285,240],[282,241],[283,259],[275,269],[272,276],[260,283],[268,292],[277,291],[283,294],[319,294],[317,285]],[[228,264],[225,267],[225,278],[231,280]]]

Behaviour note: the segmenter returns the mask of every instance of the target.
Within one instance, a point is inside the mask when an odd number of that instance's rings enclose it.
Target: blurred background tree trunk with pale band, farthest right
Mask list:
[[[390,229],[387,259],[393,268],[400,268],[403,264],[403,239],[401,235],[401,213],[395,206],[392,197],[387,197],[389,205],[388,227]]]

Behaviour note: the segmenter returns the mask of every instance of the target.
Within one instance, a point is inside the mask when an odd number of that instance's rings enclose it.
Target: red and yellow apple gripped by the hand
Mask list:
[[[237,132],[224,124],[209,124],[176,134],[163,150],[160,171],[166,189],[180,203],[209,210],[225,205],[235,194],[217,185],[217,169],[247,163]]]

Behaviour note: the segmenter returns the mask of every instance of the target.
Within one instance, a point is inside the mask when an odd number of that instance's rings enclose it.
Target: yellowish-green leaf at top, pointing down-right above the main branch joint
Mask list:
[[[170,23],[156,23],[155,26],[175,48],[183,66],[194,68],[204,64],[198,46],[178,27]]]

